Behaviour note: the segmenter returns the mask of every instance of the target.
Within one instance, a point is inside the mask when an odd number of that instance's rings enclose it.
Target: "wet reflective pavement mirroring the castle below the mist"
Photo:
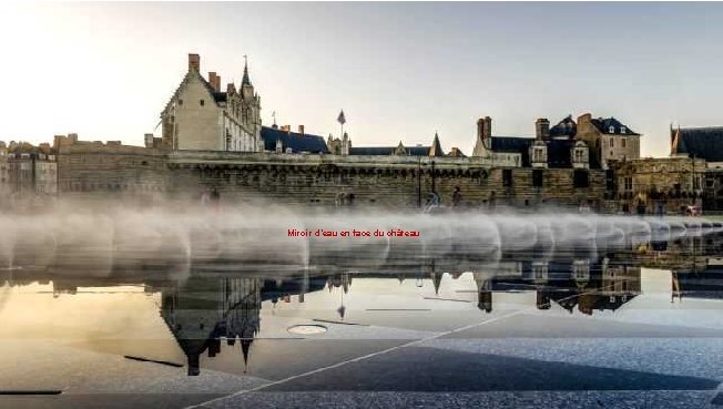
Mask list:
[[[0,408],[723,407],[723,234],[653,238],[182,276],[13,264]]]

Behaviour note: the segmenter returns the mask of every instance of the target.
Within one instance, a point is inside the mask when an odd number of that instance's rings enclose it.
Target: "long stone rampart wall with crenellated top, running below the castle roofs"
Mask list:
[[[601,203],[603,171],[588,174],[589,187],[574,187],[573,170],[541,170],[542,186],[532,186],[531,168],[490,168],[476,157],[337,156],[231,153],[175,153],[169,157],[170,192],[200,197],[217,188],[226,201],[259,198],[295,205],[334,205],[339,192],[355,194],[355,205],[417,207],[438,192],[449,205],[455,187],[462,205],[577,206]],[[505,173],[511,173],[506,186]],[[493,192],[493,193],[492,193]]]

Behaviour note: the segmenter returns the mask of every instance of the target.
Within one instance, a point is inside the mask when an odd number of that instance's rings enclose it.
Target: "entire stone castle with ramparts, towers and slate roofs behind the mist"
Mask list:
[[[460,191],[462,207],[472,208],[584,204],[600,212],[643,206],[652,213],[662,197],[665,212],[701,201],[723,209],[723,190],[716,187],[723,176],[715,171],[721,161],[711,156],[723,152],[723,134],[695,136],[709,131],[671,131],[673,157],[641,160],[641,135],[615,117],[584,113],[553,126],[538,119],[532,135],[499,136],[483,116],[473,151],[465,155],[458,147],[446,153],[437,133],[426,146],[360,146],[347,133],[325,139],[304,125],[297,132],[265,126],[261,109],[247,63],[241,83],[222,91],[221,76],[204,78],[200,55],[189,54],[187,72],[161,110],[161,136],[146,134],[144,147],[55,137],[58,195],[153,203],[195,200],[204,188],[216,188],[228,202],[317,206],[353,192],[358,205],[414,208],[432,193],[445,204]],[[694,165],[681,160],[693,155]],[[669,176],[654,184],[641,176],[645,172]]]

